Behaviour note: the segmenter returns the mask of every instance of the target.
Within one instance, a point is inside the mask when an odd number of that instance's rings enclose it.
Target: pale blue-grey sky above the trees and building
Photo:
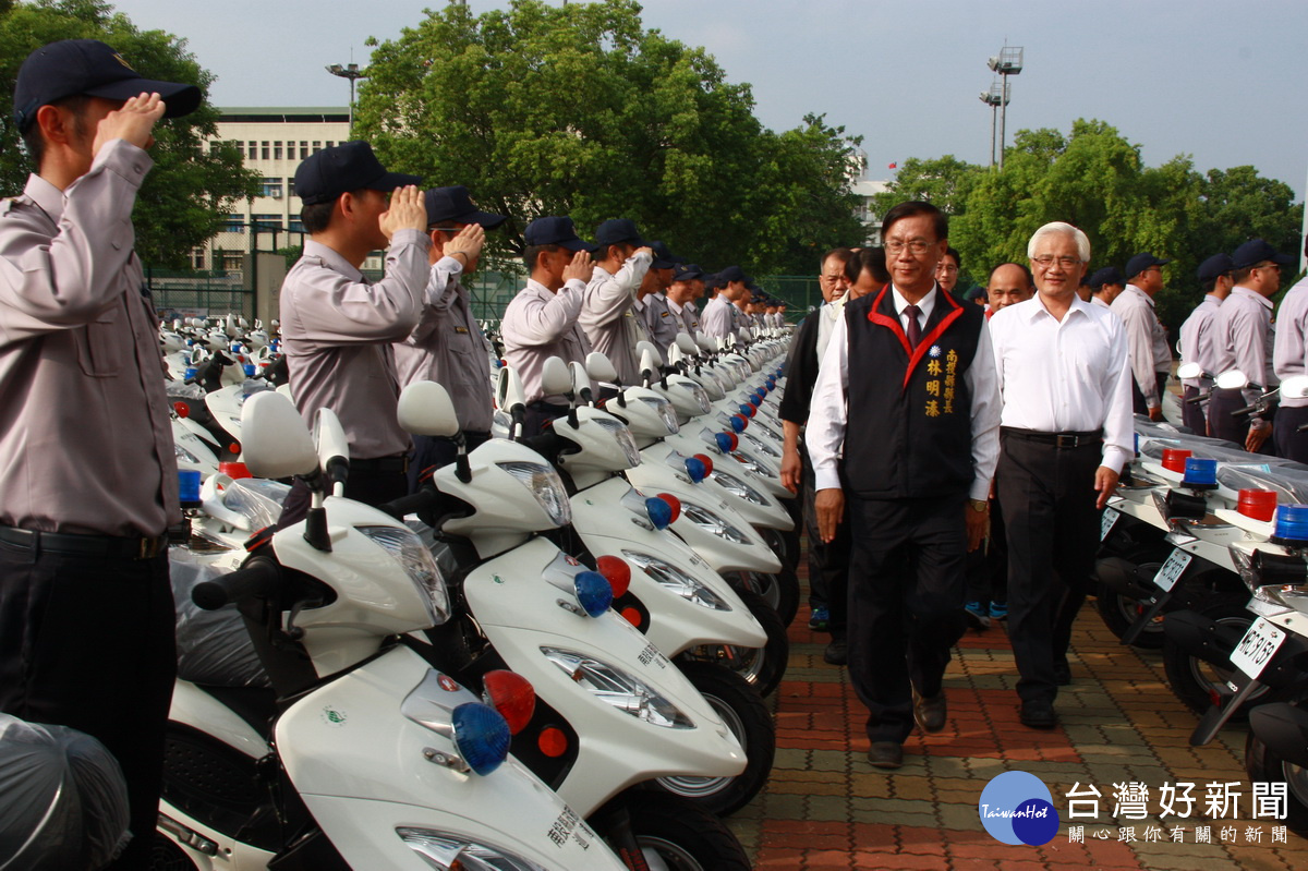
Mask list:
[[[143,29],[187,38],[218,77],[220,106],[343,106],[348,85],[323,67],[351,51],[365,64],[369,35],[398,37],[439,3],[115,5]],[[1150,165],[1179,153],[1201,171],[1250,163],[1304,195],[1304,0],[647,0],[644,21],[749,82],[768,127],[818,112],[862,135],[874,178],[908,157],[988,162],[990,110],[978,94],[991,81],[986,59],[1007,41],[1025,50],[1010,80],[1010,143],[1020,128],[1066,132],[1097,118],[1142,145]]]

